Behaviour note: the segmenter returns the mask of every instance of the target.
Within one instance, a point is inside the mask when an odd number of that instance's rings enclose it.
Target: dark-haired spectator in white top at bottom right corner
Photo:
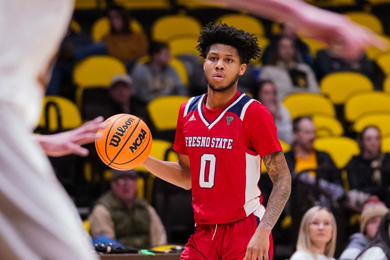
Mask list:
[[[390,259],[390,212],[383,216],[374,240],[359,255],[357,260],[389,260]]]

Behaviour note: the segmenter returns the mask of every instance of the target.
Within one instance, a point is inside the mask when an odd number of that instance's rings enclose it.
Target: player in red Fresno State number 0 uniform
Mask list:
[[[198,42],[208,92],[180,107],[178,163],[149,158],[144,165],[192,188],[196,229],[182,259],[272,259],[271,230],[289,198],[291,176],[271,113],[237,91],[247,63],[260,54],[257,39],[210,23]],[[273,181],[267,210],[257,185],[261,158]]]

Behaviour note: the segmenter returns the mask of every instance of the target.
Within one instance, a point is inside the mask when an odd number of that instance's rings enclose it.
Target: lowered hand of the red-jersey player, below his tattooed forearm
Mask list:
[[[269,248],[270,235],[256,230],[248,243],[244,260],[268,260]]]

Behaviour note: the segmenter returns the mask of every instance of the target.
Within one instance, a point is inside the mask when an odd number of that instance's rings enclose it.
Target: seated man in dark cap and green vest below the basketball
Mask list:
[[[135,170],[113,170],[111,190],[98,199],[88,220],[92,237],[105,235],[140,249],[167,243],[155,209],[137,198]]]

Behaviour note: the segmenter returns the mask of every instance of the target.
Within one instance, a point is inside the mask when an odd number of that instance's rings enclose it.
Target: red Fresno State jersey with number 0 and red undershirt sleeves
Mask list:
[[[237,92],[214,118],[205,98],[182,104],[174,144],[190,159],[195,222],[228,223],[256,210],[261,219],[260,156],[282,150],[273,117],[264,105]]]

